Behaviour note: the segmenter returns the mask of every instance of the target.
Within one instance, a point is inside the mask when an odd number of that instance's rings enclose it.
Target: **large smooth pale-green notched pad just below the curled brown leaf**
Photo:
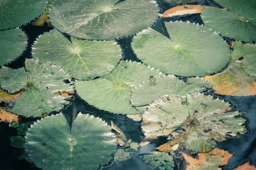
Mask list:
[[[192,77],[219,71],[229,62],[229,46],[212,29],[189,21],[165,25],[172,40],[152,28],[134,37],[132,48],[145,64],[167,74]]]

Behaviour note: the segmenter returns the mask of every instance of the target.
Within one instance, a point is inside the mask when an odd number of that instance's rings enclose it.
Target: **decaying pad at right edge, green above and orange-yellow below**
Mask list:
[[[221,73],[206,76],[215,93],[232,96],[256,95],[256,45],[234,43],[231,62]]]

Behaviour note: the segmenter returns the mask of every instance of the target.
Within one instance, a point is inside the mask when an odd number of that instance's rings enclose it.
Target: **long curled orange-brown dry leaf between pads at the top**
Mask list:
[[[209,7],[217,8],[213,6],[209,6]],[[172,16],[186,15],[186,14],[198,14],[198,13],[201,13],[202,9],[204,8],[205,6],[200,6],[200,5],[175,6],[165,11],[161,17],[166,18],[166,17],[172,17]],[[219,8],[219,9],[227,10],[227,8]]]

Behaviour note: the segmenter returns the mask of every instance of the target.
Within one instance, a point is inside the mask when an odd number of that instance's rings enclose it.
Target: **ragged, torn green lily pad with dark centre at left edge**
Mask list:
[[[41,64],[38,59],[26,59],[26,70],[0,69],[1,88],[9,93],[23,89],[23,94],[15,98],[15,105],[9,111],[23,116],[42,116],[69,103],[64,100],[68,96],[54,94],[73,90],[73,86],[64,82],[70,75],[63,68],[49,62]]]

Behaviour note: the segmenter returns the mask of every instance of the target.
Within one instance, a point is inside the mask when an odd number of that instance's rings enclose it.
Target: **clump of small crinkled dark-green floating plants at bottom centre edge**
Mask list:
[[[146,163],[151,167],[158,167],[160,170],[174,170],[175,163],[173,158],[168,153],[164,152],[151,152],[151,154],[146,154],[140,156]]]

